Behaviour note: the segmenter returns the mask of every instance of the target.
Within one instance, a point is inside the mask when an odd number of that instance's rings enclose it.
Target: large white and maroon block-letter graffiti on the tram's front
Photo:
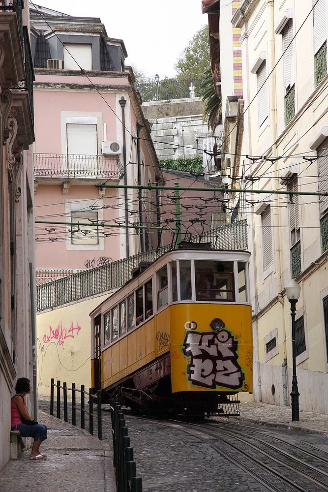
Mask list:
[[[197,386],[215,389],[241,388],[245,374],[238,362],[239,342],[226,329],[216,333],[187,331],[182,351],[190,357],[188,380]]]

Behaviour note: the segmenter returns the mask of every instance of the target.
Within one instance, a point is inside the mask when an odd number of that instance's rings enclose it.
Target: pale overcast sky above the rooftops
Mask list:
[[[201,0],[42,0],[65,14],[100,17],[107,35],[123,39],[133,65],[149,77],[174,77],[175,62],[205,24]]]

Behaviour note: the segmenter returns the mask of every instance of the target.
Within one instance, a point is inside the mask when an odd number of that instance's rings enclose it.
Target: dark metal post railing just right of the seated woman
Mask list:
[[[71,412],[72,412],[72,425],[76,426],[76,410],[81,412],[81,429],[85,429],[85,416],[89,415],[89,432],[93,435],[93,419],[97,417],[97,431],[98,439],[102,440],[102,419],[101,419],[101,390],[98,390],[96,394],[93,394],[93,388],[89,388],[89,391],[85,391],[84,384],[81,384],[81,388],[77,389],[75,383],[72,386],[67,387],[66,383],[60,385],[60,381],[55,384],[55,379],[51,379],[50,383],[50,415],[54,415],[54,393],[55,387],[57,388],[57,418],[60,419],[60,390],[63,390],[63,406],[64,406],[64,421],[68,422],[68,406],[67,406],[67,391],[72,393],[71,399]],[[76,393],[80,393],[81,402],[80,405],[76,405]],[[89,398],[89,411],[85,408],[85,395]],[[93,413],[93,401],[97,404],[97,415]]]

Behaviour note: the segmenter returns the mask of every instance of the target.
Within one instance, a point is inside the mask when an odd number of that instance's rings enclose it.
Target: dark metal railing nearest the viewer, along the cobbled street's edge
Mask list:
[[[117,401],[110,400],[113,431],[114,469],[118,492],[142,492],[142,479],[137,477],[133,448],[130,447],[124,414]]]

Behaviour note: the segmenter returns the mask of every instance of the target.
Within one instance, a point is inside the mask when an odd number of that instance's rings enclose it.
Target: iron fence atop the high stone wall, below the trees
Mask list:
[[[143,101],[167,101],[199,97],[202,79],[163,79],[158,83],[136,84]]]

